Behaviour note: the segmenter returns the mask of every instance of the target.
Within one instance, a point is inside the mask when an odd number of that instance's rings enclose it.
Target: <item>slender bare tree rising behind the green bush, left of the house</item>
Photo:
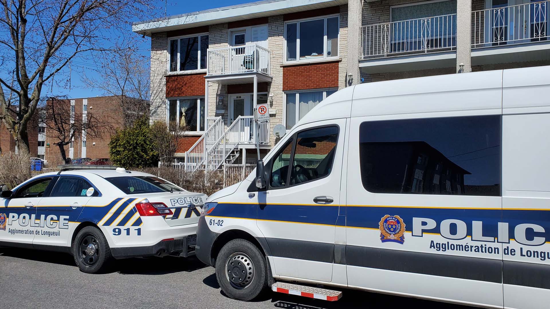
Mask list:
[[[135,46],[130,41],[114,51],[103,52],[98,59],[100,66],[95,69],[97,77],[82,77],[86,85],[102,90],[104,95],[116,96],[126,127],[149,116],[149,57],[140,55]]]

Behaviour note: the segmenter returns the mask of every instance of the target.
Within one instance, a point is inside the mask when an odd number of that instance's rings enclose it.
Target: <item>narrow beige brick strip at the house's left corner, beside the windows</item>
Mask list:
[[[166,70],[168,66],[166,32],[151,36],[151,123],[166,120]]]

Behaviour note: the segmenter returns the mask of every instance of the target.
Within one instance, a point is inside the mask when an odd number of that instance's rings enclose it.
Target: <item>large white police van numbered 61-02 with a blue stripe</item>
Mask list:
[[[549,136],[550,67],[348,87],[208,198],[196,255],[239,300],[548,308]]]

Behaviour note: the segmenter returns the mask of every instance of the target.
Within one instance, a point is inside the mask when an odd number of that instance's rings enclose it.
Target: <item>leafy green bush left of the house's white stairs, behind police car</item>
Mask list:
[[[158,153],[146,118],[136,120],[134,126],[117,130],[109,142],[111,161],[124,168],[157,166]]]

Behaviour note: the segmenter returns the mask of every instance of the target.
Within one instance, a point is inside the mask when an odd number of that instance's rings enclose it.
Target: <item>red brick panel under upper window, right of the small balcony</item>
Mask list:
[[[338,87],[339,62],[297,64],[283,68],[283,90]]]

